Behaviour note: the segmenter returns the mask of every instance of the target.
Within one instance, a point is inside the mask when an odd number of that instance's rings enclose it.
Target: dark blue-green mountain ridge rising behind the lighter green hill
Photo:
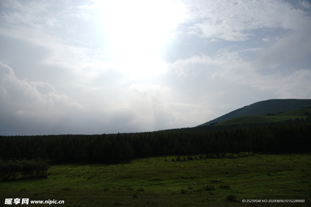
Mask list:
[[[300,109],[302,107],[311,106],[311,99],[270,99],[266,101],[259,101],[248,106],[231,111],[225,115],[222,115],[216,119],[208,121],[198,126],[209,125],[215,122],[222,122],[228,119],[237,118],[240,116],[249,115],[266,115],[268,113],[279,113],[281,111],[291,111]]]

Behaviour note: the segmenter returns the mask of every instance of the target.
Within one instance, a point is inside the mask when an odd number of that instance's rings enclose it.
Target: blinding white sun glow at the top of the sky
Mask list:
[[[185,19],[182,2],[105,1],[100,8],[102,32],[109,39],[118,70],[132,78],[165,72],[160,55],[165,43],[174,37],[172,30]]]

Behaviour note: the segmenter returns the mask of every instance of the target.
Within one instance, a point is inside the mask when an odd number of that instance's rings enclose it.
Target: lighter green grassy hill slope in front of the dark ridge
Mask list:
[[[244,123],[254,123],[254,122],[276,122],[276,121],[284,121],[287,119],[305,119],[307,115],[304,115],[305,112],[311,113],[311,109],[295,109],[282,114],[277,114],[274,116],[241,116],[234,119],[229,119],[220,124],[244,124]]]

